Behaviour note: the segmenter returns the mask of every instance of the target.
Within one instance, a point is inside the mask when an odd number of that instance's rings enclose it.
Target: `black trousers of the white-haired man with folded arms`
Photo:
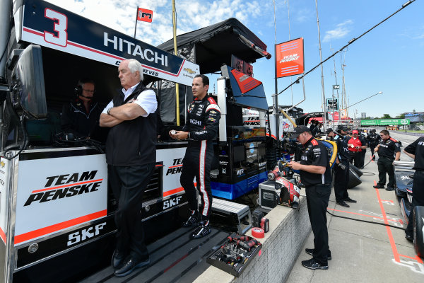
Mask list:
[[[148,258],[141,222],[141,200],[154,170],[155,163],[143,166],[107,166],[108,182],[118,202],[114,217],[117,225],[117,249],[139,260]]]

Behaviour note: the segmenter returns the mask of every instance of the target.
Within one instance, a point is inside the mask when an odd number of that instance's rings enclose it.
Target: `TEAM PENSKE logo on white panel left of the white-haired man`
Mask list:
[[[95,192],[103,180],[94,180],[96,173],[97,170],[86,171],[81,174],[71,173],[47,177],[45,188],[33,190],[23,206],[26,207],[34,202],[50,202],[52,200],[63,199],[64,197],[74,197],[88,192]]]

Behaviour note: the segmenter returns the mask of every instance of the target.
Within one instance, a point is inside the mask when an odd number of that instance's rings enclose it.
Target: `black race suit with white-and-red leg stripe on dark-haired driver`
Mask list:
[[[213,158],[213,138],[219,128],[220,109],[213,98],[205,96],[195,99],[188,107],[187,121],[182,131],[189,132],[189,146],[182,161],[180,182],[187,195],[189,208],[198,209],[196,189],[201,197],[202,221],[208,221],[212,207],[211,163]]]

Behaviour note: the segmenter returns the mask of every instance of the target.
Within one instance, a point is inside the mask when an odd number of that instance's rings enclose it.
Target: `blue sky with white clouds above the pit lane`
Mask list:
[[[153,10],[153,23],[139,22],[137,38],[158,45],[172,37],[171,0],[49,0],[49,2],[98,21],[103,25],[134,35],[136,6]],[[317,15],[314,0],[276,2],[276,42],[303,37],[305,71],[319,63]],[[353,37],[401,8],[406,0],[319,0],[318,14],[322,57],[339,50]],[[272,0],[175,0],[177,34],[187,33],[235,17],[254,32],[274,55],[274,7]],[[290,22],[288,21],[290,11]],[[389,18],[360,40],[324,64],[324,92],[331,98],[332,86],[341,86],[341,64],[346,65],[344,79],[348,105],[374,96],[349,108],[349,116],[361,112],[367,116],[391,117],[412,110],[424,111],[424,1],[416,0]],[[333,50],[333,51],[331,51]],[[274,59],[259,59],[253,64],[254,77],[264,83],[271,105],[274,93]],[[334,76],[336,71],[336,77]],[[214,78],[212,78],[214,79]],[[293,78],[295,79],[295,78]],[[290,78],[278,79],[278,92],[290,84]],[[302,100],[302,85],[278,96],[280,105]],[[322,110],[321,69],[305,76],[307,99],[299,105],[305,112]]]

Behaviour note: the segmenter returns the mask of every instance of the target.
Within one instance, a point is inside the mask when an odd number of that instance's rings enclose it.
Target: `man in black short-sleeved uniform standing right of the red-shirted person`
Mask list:
[[[389,183],[386,190],[394,190],[394,168],[393,161],[399,161],[401,157],[401,148],[398,141],[390,137],[389,131],[383,129],[380,132],[382,141],[375,147],[374,151],[378,152],[378,183],[374,185],[376,189],[384,189],[386,185],[386,173],[389,175]],[[396,154],[396,156],[395,156]]]

